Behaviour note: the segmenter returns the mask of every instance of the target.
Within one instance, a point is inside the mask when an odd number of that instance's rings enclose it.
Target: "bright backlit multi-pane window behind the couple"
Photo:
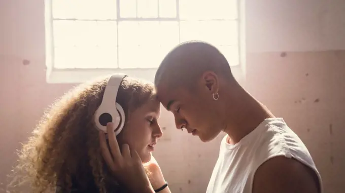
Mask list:
[[[153,80],[168,51],[188,40],[214,44],[235,76],[244,74],[238,3],[46,0],[47,82],[79,83],[114,72]]]

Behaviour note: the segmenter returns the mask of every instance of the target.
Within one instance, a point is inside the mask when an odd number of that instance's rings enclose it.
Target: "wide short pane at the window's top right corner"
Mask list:
[[[237,0],[180,0],[183,20],[236,19]]]

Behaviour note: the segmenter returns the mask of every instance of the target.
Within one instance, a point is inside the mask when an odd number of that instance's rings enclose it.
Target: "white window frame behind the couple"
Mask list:
[[[56,83],[82,83],[90,79],[113,73],[125,73],[129,76],[153,81],[157,68],[97,68],[97,69],[59,69],[54,68],[54,36],[53,36],[53,14],[52,1],[45,0],[45,56],[46,56],[46,82]],[[116,0],[119,5],[120,0]],[[245,83],[246,79],[246,46],[245,46],[245,1],[237,1],[238,11],[238,53],[239,64],[231,66],[234,77],[240,84]],[[120,9],[117,6],[118,21],[180,21],[179,19],[179,0],[176,0],[176,18],[120,18]],[[117,51],[118,52],[118,51]]]

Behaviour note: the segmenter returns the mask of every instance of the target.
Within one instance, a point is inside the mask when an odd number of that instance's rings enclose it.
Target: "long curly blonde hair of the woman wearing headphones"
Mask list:
[[[108,80],[79,85],[51,106],[18,151],[9,188],[28,184],[32,192],[50,192],[59,183],[66,188],[64,192],[71,192],[74,184],[85,190],[93,184],[99,192],[122,192],[104,164],[93,122]],[[154,92],[152,83],[125,77],[116,101],[128,117],[152,99]]]

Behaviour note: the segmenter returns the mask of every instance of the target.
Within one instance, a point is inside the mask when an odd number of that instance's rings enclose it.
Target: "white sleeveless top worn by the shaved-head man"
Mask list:
[[[220,145],[219,157],[206,193],[252,193],[255,171],[265,161],[276,156],[294,158],[321,176],[301,139],[282,118],[264,120],[256,129],[236,144],[227,143],[226,135]]]

